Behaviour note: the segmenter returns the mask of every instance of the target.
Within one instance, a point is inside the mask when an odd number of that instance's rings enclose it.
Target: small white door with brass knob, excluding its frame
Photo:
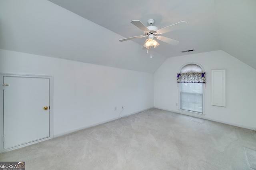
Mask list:
[[[4,149],[50,137],[49,105],[49,78],[4,76]]]

